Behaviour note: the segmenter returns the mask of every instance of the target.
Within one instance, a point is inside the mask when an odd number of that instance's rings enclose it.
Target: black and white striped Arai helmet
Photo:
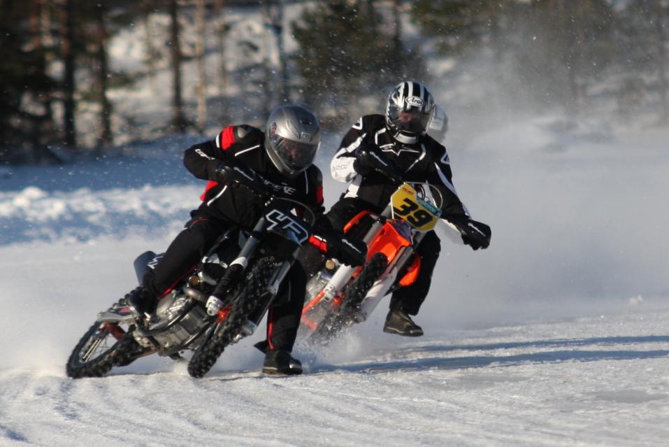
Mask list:
[[[388,97],[386,125],[394,139],[413,144],[430,126],[434,108],[427,87],[411,80],[399,83]]]

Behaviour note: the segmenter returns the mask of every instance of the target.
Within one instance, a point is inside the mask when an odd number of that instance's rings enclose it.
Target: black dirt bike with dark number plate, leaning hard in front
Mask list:
[[[127,298],[99,313],[67,361],[68,376],[99,377],[143,355],[178,360],[182,351],[194,350],[188,372],[201,377],[226,346],[254,332],[308,240],[315,216],[299,201],[267,194],[254,171],[226,166],[224,178],[264,194],[264,211],[252,231],[224,232],[195,269],[159,299],[151,318],[134,314]],[[292,212],[296,207],[309,222]],[[139,283],[160,258],[149,251],[135,260]],[[210,295],[222,297],[217,315],[206,311]]]

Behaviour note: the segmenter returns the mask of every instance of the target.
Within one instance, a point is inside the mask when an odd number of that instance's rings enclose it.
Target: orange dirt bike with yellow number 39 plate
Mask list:
[[[382,297],[414,283],[421,262],[412,255],[440,217],[461,234],[485,236],[473,234],[477,227],[468,226],[480,222],[464,215],[443,216],[436,202],[426,197],[423,185],[416,184],[415,189],[395,181],[397,190],[382,213],[362,211],[344,227],[347,236],[367,244],[364,266],[347,267],[326,260],[309,279],[300,325],[301,336],[308,341],[328,343],[345,327],[364,322]]]

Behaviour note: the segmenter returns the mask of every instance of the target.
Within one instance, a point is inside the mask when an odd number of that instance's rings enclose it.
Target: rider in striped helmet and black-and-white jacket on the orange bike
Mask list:
[[[340,201],[327,213],[333,227],[344,227],[363,210],[380,213],[396,190],[397,185],[389,180],[394,177],[433,186],[438,192],[433,195],[443,199],[443,213],[461,216],[483,235],[463,234],[463,242],[473,250],[487,248],[489,227],[468,220],[467,208],[452,183],[446,148],[426,134],[435,110],[434,99],[427,88],[407,81],[392,90],[385,115],[366,115],[352,126],[331,162],[332,176],[351,182]],[[445,132],[445,113],[439,118]],[[432,230],[417,247],[421,260],[417,281],[392,295],[384,332],[405,336],[423,334],[423,329],[409,315],[417,315],[428,294],[439,252],[440,240]]]

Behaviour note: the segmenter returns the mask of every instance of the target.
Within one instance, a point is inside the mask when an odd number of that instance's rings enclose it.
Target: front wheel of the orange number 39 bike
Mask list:
[[[371,290],[376,280],[388,267],[388,258],[383,253],[376,253],[367,262],[360,274],[346,288],[346,297],[330,313],[309,337],[311,343],[326,345],[345,327],[355,321],[356,313],[362,300]]]

